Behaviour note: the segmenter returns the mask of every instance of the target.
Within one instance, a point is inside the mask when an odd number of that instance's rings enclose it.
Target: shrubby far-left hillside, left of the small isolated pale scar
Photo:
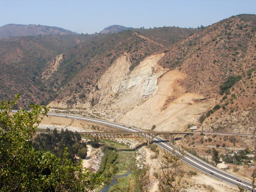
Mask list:
[[[52,85],[41,78],[42,72],[57,55],[87,38],[91,36],[26,36],[0,40],[0,100],[20,93],[18,106],[47,104],[55,92]]]

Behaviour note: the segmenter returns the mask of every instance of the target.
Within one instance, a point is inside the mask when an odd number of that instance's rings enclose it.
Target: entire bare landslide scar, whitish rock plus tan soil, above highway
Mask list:
[[[204,95],[186,93],[180,81],[187,75],[159,66],[163,55],[148,56],[131,72],[129,55],[118,58],[98,82],[97,110],[115,112],[113,120],[141,129],[155,124],[156,131],[179,131],[196,124],[212,101],[195,101]]]

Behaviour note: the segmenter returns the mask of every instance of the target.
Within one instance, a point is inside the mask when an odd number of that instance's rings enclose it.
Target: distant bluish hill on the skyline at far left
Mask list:
[[[76,33],[63,28],[44,25],[7,24],[0,27],[0,39],[14,36],[46,36],[54,34],[67,35]]]

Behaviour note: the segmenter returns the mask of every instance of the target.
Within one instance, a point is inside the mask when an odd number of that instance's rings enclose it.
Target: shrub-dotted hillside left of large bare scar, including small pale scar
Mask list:
[[[63,98],[68,106],[85,102],[97,79],[124,52],[137,65],[148,54],[162,49],[157,42],[142,37],[124,31],[2,39],[0,78],[4,83],[0,85],[3,90],[0,99],[12,98],[19,92],[22,103],[19,106],[23,108],[31,103],[47,104],[49,100]]]

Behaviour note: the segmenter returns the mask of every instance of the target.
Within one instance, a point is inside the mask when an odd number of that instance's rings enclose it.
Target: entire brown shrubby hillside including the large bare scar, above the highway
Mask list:
[[[156,131],[250,132],[255,31],[256,16],[243,14],[204,29],[0,40],[0,100],[21,92],[19,107],[41,102]]]

